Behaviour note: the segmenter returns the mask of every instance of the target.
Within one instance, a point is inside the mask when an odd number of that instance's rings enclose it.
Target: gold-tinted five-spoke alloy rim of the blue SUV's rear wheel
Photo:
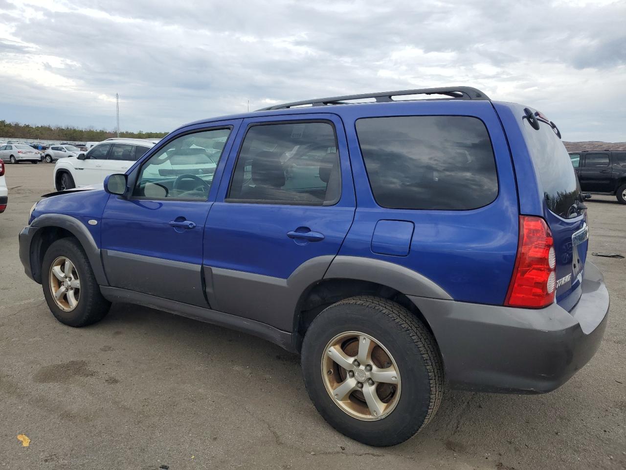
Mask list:
[[[332,338],[324,348],[321,372],[331,399],[356,419],[382,419],[398,404],[398,365],[370,335],[346,332]]]

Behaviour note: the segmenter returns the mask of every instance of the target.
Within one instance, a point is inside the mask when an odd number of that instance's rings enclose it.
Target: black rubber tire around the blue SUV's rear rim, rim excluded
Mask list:
[[[352,417],[324,385],[322,357],[332,338],[343,332],[376,338],[396,362],[401,392],[395,408],[382,419]],[[305,334],[302,371],[309,397],[322,417],[337,431],[370,446],[394,446],[421,431],[443,396],[443,365],[433,335],[406,308],[379,297],[352,297],[322,311]]]

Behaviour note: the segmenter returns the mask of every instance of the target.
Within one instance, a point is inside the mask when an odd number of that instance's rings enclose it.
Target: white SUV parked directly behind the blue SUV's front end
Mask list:
[[[59,159],[54,167],[54,187],[64,191],[73,187],[103,184],[107,175],[125,173],[155,142],[144,138],[109,138],[76,157]]]

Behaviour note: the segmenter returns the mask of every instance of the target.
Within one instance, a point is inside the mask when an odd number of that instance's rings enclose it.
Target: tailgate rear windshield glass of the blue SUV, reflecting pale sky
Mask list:
[[[580,200],[580,185],[565,145],[550,125],[542,122],[535,130],[528,119],[522,122],[526,147],[548,209],[563,219],[577,217],[574,204]]]

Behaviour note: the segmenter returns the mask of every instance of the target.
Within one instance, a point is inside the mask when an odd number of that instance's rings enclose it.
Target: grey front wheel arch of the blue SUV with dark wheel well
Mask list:
[[[31,225],[37,227],[29,248],[31,272],[35,281],[41,283],[41,263],[48,247],[60,238],[74,237],[85,250],[98,284],[108,286],[100,249],[81,221],[64,214],[44,214],[34,219]]]

